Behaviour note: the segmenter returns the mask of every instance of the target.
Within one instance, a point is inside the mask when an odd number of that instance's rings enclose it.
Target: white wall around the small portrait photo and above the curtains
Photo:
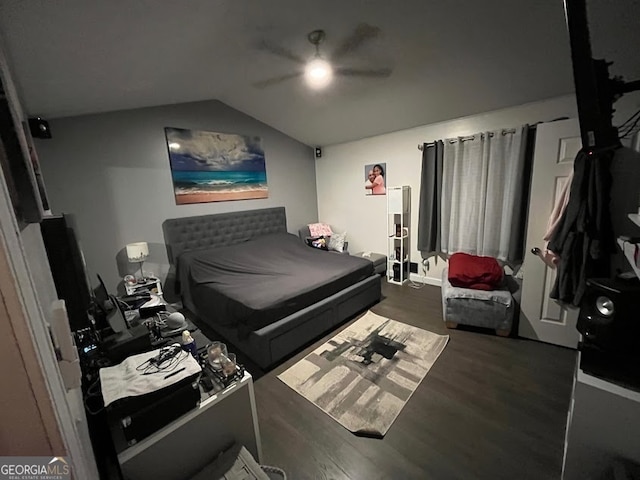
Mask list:
[[[325,147],[322,158],[316,160],[318,218],[347,231],[350,252],[368,250],[386,254],[386,196],[365,195],[364,189],[364,166],[386,163],[388,186],[411,187],[411,261],[419,263],[417,205],[422,152],[418,145],[559,117],[577,117],[573,95]],[[444,262],[434,263],[432,260],[424,281],[439,285]]]

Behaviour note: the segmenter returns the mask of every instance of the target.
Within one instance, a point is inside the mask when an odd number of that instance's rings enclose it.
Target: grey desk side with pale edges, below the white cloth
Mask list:
[[[261,462],[253,378],[246,372],[221,392],[203,393],[198,408],[122,451],[118,461],[127,479],[183,480],[233,443]]]

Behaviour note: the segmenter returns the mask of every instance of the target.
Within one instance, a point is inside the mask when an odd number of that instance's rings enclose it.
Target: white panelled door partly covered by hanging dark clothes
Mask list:
[[[578,346],[578,310],[561,306],[549,297],[556,270],[531,250],[544,249],[542,238],[547,222],[581,147],[577,119],[541,123],[537,127],[518,327],[521,337],[571,348]]]

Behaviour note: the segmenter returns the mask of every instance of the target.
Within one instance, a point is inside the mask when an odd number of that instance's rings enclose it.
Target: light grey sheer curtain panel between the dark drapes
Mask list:
[[[441,249],[508,260],[520,205],[527,127],[445,140]]]

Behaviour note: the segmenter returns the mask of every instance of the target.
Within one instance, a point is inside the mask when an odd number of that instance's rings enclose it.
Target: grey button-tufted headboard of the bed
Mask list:
[[[162,223],[169,263],[181,253],[206,247],[224,247],[259,235],[287,232],[284,207],[242,212],[170,218]]]

